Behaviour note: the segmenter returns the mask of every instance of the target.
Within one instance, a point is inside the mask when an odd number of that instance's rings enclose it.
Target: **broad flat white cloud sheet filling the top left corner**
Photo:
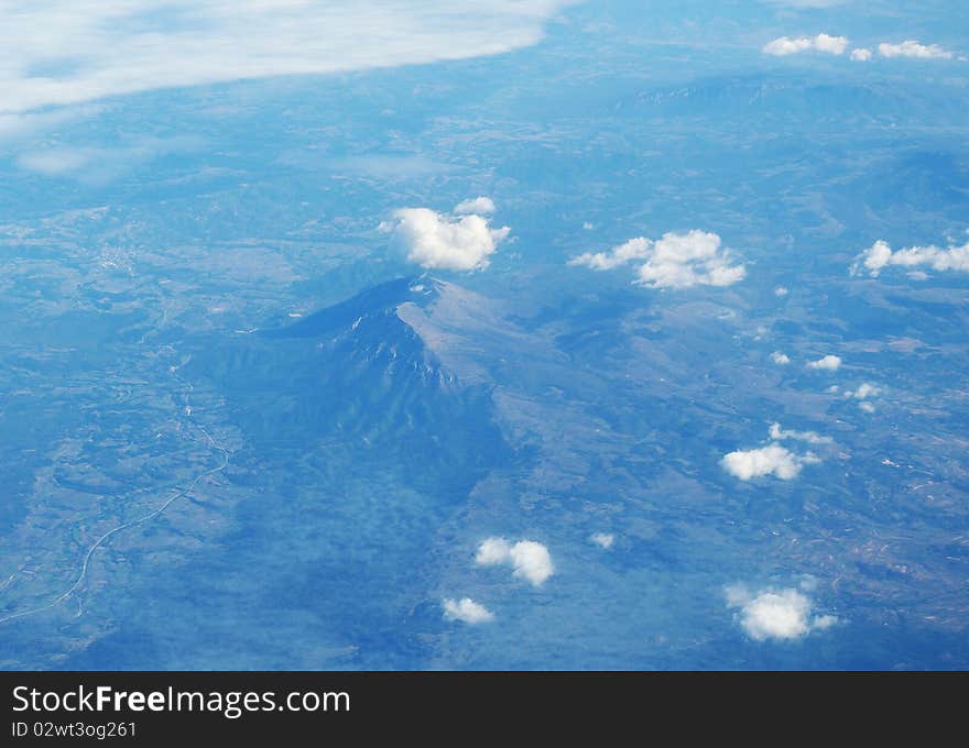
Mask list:
[[[493,55],[568,0],[4,0],[0,113],[277,75]]]

